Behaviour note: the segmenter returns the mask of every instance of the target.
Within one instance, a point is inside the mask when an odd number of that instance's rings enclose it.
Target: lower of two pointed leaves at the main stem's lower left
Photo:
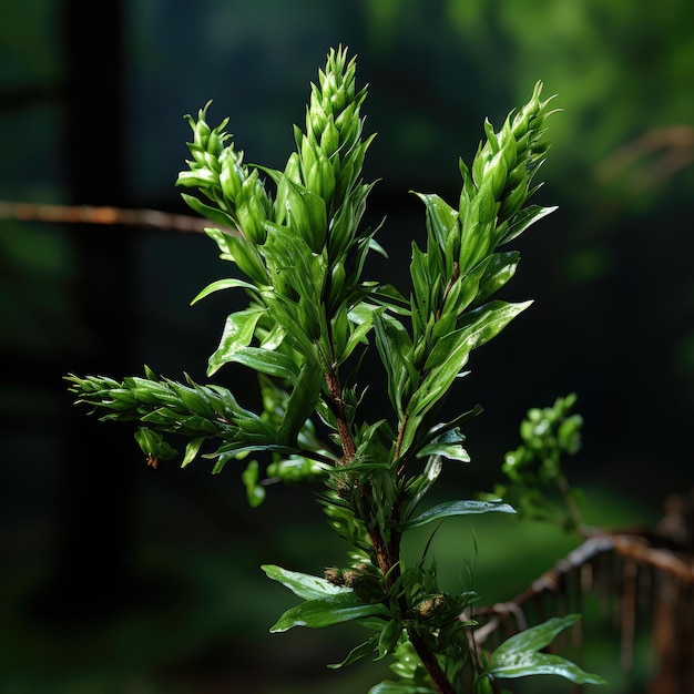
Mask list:
[[[351,589],[324,600],[307,600],[287,610],[271,627],[272,633],[287,631],[294,626],[323,629],[333,624],[360,620],[366,616],[387,616],[380,603],[365,603]]]

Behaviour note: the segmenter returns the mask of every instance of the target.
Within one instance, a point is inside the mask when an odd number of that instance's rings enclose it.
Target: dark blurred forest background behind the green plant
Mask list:
[[[575,390],[586,425],[569,472],[588,520],[649,524],[667,493],[692,486],[693,16],[676,0],[7,2],[0,198],[185,213],[173,186],[187,155],[182,115],[213,99],[212,121],[231,116],[246,160],[282,167],[308,81],[343,43],[378,132],[368,216],[387,215],[390,261],[369,269],[402,287],[410,239],[423,235],[408,191],[456,201],[457,157],[471,161],[483,119],[498,129],[543,80],[563,112],[549,121],[535,202],[560,210],[518,243],[508,294],[535,304],[471,363],[453,405],[486,411],[468,431],[472,466],[441,493],[489,489],[524,411]],[[0,691],[365,690],[385,667],[323,667],[350,647],[345,631],[267,635],[292,598],[259,563],[344,563],[310,490],[273,489],[251,511],[231,467],[153,472],[132,429],[84,417],[61,380],[143,363],[204,380],[235,308],[231,294],[187,306],[234,272],[214,244],[1,220],[0,246]],[[241,370],[221,379],[242,397],[253,388]],[[483,602],[510,598],[576,543],[534,527],[514,534],[506,519],[474,530]],[[450,521],[437,541],[455,583],[474,554],[470,523]],[[611,691],[643,691],[639,669],[600,659],[586,666]]]

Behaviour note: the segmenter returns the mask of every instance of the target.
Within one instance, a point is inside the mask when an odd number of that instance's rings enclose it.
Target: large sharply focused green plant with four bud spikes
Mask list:
[[[218,289],[248,297],[232,313],[208,376],[228,363],[258,374],[263,409],[243,407],[220,385],[177,382],[145,367],[144,377],[114,380],[70,376],[78,401],[104,420],[137,421],[136,439],[151,463],[176,451],[164,438],[187,439],[183,465],[196,457],[229,461],[253,457],[243,472],[248,500],[258,506],[266,474],[285,481],[319,478],[327,520],[350,544],[345,568],[324,576],[263,567],[303,602],[272,627],[323,627],[358,621],[368,632],[340,665],[367,655],[391,656],[395,682],[386,692],[491,691],[497,677],[561,674],[599,683],[572,663],[538,651],[571,625],[574,615],[522,632],[494,653],[478,653],[474,624],[460,615],[476,594],[449,594],[438,585],[427,551],[406,565],[404,533],[447,517],[512,513],[501,500],[455,500],[422,510],[445,461],[468,461],[461,427],[481,408],[441,420],[447,396],[466,375],[470,354],[527,308],[496,293],[513,276],[516,251],[500,249],[551,208],[525,205],[543,161],[550,100],[538,84],[518,113],[494,132],[484,124],[462,176],[453,207],[435,194],[418,194],[426,210],[427,241],[412,243],[411,288],[363,278],[367,255],[384,253],[361,217],[372,183],[361,167],[372,136],[363,137],[355,61],[330,51],[319,84],[312,84],[306,130],[295,127],[296,152],[284,171],[244,163],[225,133],[227,120],[207,124],[207,106],[188,118],[193,142],[178,185],[187,204],[221,225],[208,235],[222,258],[245,276],[213,283],[195,300]],[[274,184],[269,192],[266,182]],[[359,366],[375,345],[387,378],[391,412],[367,421]],[[468,684],[466,684],[468,683]]]

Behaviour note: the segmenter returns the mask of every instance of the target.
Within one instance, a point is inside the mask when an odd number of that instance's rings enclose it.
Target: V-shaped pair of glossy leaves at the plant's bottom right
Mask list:
[[[576,684],[606,684],[599,675],[584,672],[564,657],[538,653],[549,645],[559,632],[572,626],[580,619],[580,614],[552,618],[507,639],[491,654],[482,675],[491,674],[494,677],[560,675]]]

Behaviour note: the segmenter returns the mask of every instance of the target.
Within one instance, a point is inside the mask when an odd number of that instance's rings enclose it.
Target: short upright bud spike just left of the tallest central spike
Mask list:
[[[265,222],[272,217],[273,201],[257,169],[243,163],[244,153],[235,151],[233,143],[226,144],[231,139],[224,131],[228,119],[214,130],[207,124],[210,103],[198,111],[197,121],[185,116],[193,130],[193,142],[187,143],[193,160],[186,162],[190,170],[178,174],[176,184],[198,188],[214,203],[214,207],[210,207],[185,195],[184,198],[196,212],[215,222],[236,226],[248,241],[263,244],[266,238]]]

